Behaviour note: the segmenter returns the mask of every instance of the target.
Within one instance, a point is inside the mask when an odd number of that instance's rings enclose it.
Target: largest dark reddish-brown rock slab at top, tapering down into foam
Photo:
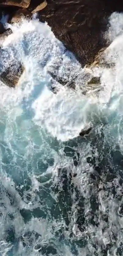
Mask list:
[[[50,0],[39,12],[55,36],[75,53],[82,66],[92,64],[99,51],[107,47],[103,33],[108,17],[123,11],[121,0]]]

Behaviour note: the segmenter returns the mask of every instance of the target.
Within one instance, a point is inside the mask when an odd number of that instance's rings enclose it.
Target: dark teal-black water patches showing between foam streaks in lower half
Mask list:
[[[57,242],[61,242],[64,245],[68,245],[71,249],[73,255],[78,255],[78,248],[85,247],[89,241],[91,241],[92,247],[97,251],[97,248],[100,248],[100,255],[107,255],[107,251],[112,248],[113,244],[116,243],[117,240],[117,231],[111,231],[113,238],[107,246],[100,245],[98,243],[94,243],[91,240],[91,236],[88,234],[85,235],[85,229],[92,225],[94,229],[98,229],[100,225],[100,221],[105,223],[105,227],[103,227],[102,232],[105,232],[105,228],[109,226],[109,212],[102,212],[99,217],[99,192],[106,192],[106,196],[111,194],[114,199],[118,199],[118,204],[120,206],[119,215],[123,216],[123,203],[121,198],[123,196],[123,155],[121,154],[118,145],[110,148],[110,146],[105,141],[105,135],[103,133],[96,134],[92,133],[90,136],[85,138],[76,138],[74,140],[68,141],[64,143],[64,153],[66,157],[71,158],[74,162],[74,166],[79,166],[80,161],[80,151],[78,148],[83,145],[83,143],[88,143],[91,141],[92,146],[92,155],[87,156],[86,161],[90,166],[93,167],[92,171],[88,173],[89,179],[89,197],[88,203],[90,205],[90,209],[88,214],[85,214],[85,204],[87,203],[87,198],[81,193],[78,189],[77,185],[74,184],[74,178],[78,177],[78,173],[72,173],[72,170],[68,170],[65,167],[61,167],[58,170],[58,179],[57,182],[52,180],[51,177],[39,177],[38,181],[41,184],[38,191],[34,191],[34,200],[37,201],[38,205],[41,207],[34,208],[32,210],[27,209],[18,209],[19,214],[22,216],[24,223],[27,224],[31,218],[44,218],[49,221],[52,220],[63,220],[64,225],[61,226],[56,231],[53,232],[53,236],[55,237],[56,244]],[[58,143],[58,142],[57,142]],[[78,147],[79,145],[79,147]],[[59,148],[59,143],[57,144],[57,149]],[[95,148],[98,151],[98,155],[95,156]],[[3,152],[4,152],[3,148]],[[8,152],[9,153],[9,152]],[[48,166],[53,166],[54,159],[49,158],[46,159],[47,163],[43,163],[41,159],[38,161],[38,168],[44,168],[44,171],[47,170]],[[44,167],[43,167],[44,166]],[[49,183],[45,182],[48,181]],[[115,180],[118,179],[117,186],[115,185]],[[17,182],[17,181],[16,181]],[[17,184],[16,184],[17,185]],[[21,186],[24,185],[24,186]],[[19,192],[21,198],[23,199],[24,193],[27,192],[27,202],[32,200],[31,195],[31,180],[28,176],[23,178],[22,183],[16,186],[17,192]],[[2,188],[2,187],[1,187]],[[117,188],[120,188],[121,192],[118,194]],[[3,188],[2,188],[3,189]],[[4,193],[9,198],[10,204],[14,205],[15,198],[11,195],[11,192],[4,189]],[[57,196],[57,201],[52,197],[52,195]],[[52,203],[51,203],[52,202]],[[76,214],[76,225],[78,230],[81,231],[83,237],[78,240],[71,229],[71,221],[73,219],[73,203],[75,204]],[[49,207],[50,205],[50,207]],[[1,207],[5,207],[4,203],[1,204]],[[10,220],[13,216],[8,213],[8,217]],[[100,218],[100,220],[99,220]],[[64,236],[64,232],[69,231],[69,236],[66,238]],[[23,246],[27,247],[28,243],[34,243],[33,239],[30,238],[31,234],[25,235],[24,237],[20,237],[19,240],[23,241]],[[37,233],[37,237],[39,234]],[[15,239],[15,230],[11,225],[9,229],[5,231],[5,240],[12,244],[16,243]],[[31,240],[32,239],[32,240]],[[31,241],[31,242],[29,242]],[[114,242],[112,242],[114,241]],[[56,248],[52,244],[41,245],[38,244],[35,247],[35,250],[39,251],[42,255],[55,255],[57,253]],[[117,249],[117,255],[122,255],[122,245],[120,245]],[[90,255],[90,254],[88,254]],[[98,255],[98,254],[95,254]]]

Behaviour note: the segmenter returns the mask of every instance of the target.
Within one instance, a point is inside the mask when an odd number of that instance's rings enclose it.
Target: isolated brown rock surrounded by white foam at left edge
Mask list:
[[[23,72],[24,67],[20,62],[11,64],[4,72],[1,73],[0,80],[9,87],[15,87]]]

